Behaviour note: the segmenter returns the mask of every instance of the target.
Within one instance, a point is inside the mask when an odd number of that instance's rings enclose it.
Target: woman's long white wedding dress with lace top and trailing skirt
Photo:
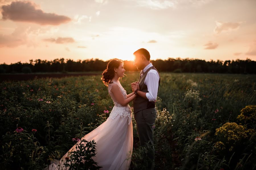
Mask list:
[[[118,103],[114,94],[110,92],[114,83],[118,84],[124,99],[127,99],[126,90],[124,90],[119,81],[109,84],[108,93],[114,102],[114,107],[107,120],[82,137],[81,140],[85,139],[88,142],[93,139],[95,140],[96,155],[92,159],[97,162],[98,166],[102,167],[100,169],[127,170],[130,167],[133,149],[132,110],[129,104],[122,106]],[[75,150],[75,146],[70,148],[68,152]],[[52,164],[44,168],[44,170],[65,169],[63,161],[65,161],[68,152],[60,160],[51,162]],[[69,168],[67,167],[67,169]]]

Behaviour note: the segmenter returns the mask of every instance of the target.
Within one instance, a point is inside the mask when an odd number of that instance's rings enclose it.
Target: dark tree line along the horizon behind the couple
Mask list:
[[[103,61],[100,59],[85,59],[83,61],[73,61],[72,59],[29,60],[29,63],[5,63],[0,65],[0,73],[38,73],[38,72],[88,72],[103,71],[111,59]],[[256,61],[246,60],[226,60],[226,61],[205,61],[201,59],[173,59],[150,60],[159,72],[175,73],[242,73],[255,74]],[[126,71],[137,71],[133,61],[124,60]]]

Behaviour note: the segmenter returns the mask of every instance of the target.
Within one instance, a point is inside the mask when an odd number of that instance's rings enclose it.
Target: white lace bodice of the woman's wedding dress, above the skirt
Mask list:
[[[126,90],[124,90],[124,88],[122,87],[122,85],[120,84],[120,82],[113,82],[113,83],[116,83],[118,84],[120,90],[121,90],[121,93],[124,97],[124,99],[127,99],[127,94],[126,94]],[[131,116],[131,113],[132,113],[132,109],[130,107],[129,104],[127,104],[126,106],[122,106],[115,98],[114,98],[114,95],[113,93],[110,91],[112,88],[112,84],[108,85],[108,93],[110,94],[112,100],[113,100],[113,103],[114,103],[114,107],[111,111],[111,113],[109,114],[109,117],[108,118],[116,118],[116,116],[118,114],[121,115],[121,117],[128,117],[128,124],[130,124],[131,120],[132,120],[132,116]]]

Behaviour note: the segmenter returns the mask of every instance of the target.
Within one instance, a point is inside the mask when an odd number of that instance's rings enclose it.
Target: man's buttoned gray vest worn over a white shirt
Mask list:
[[[143,73],[142,76],[140,76],[139,86],[140,86],[140,91],[142,91],[142,92],[146,92],[146,93],[148,92],[148,87],[144,83],[144,81],[145,81],[146,75],[148,74],[148,71],[151,70],[151,69],[154,69],[154,70],[157,71],[157,69],[154,66],[152,66],[152,67],[149,67]],[[157,71],[157,73],[158,73],[158,71]],[[160,86],[160,75],[159,75],[159,81],[158,81],[158,89],[159,89],[159,86]],[[158,90],[157,90],[157,93],[158,93]],[[140,110],[154,108],[154,107],[155,107],[155,101],[148,101],[147,99],[144,99],[140,95],[137,95],[135,97],[135,99],[133,100],[133,111],[134,111],[134,113],[136,113],[136,112],[138,112]]]

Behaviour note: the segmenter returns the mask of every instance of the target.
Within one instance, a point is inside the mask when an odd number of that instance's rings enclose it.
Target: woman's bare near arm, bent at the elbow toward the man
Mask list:
[[[111,88],[110,91],[114,94],[116,100],[117,100],[118,103],[120,103],[122,106],[126,106],[128,103],[130,103],[131,101],[133,101],[133,99],[136,97],[136,95],[134,94],[134,92],[132,92],[132,93],[133,93],[132,96],[130,96],[130,97],[127,98],[127,99],[124,99],[124,97],[123,97],[123,95],[122,95],[122,92],[121,92],[121,90],[120,90],[120,88],[119,88],[119,86],[118,86],[117,84],[113,84],[113,86],[112,86],[112,88]],[[130,95],[130,94],[129,94],[129,95]]]

